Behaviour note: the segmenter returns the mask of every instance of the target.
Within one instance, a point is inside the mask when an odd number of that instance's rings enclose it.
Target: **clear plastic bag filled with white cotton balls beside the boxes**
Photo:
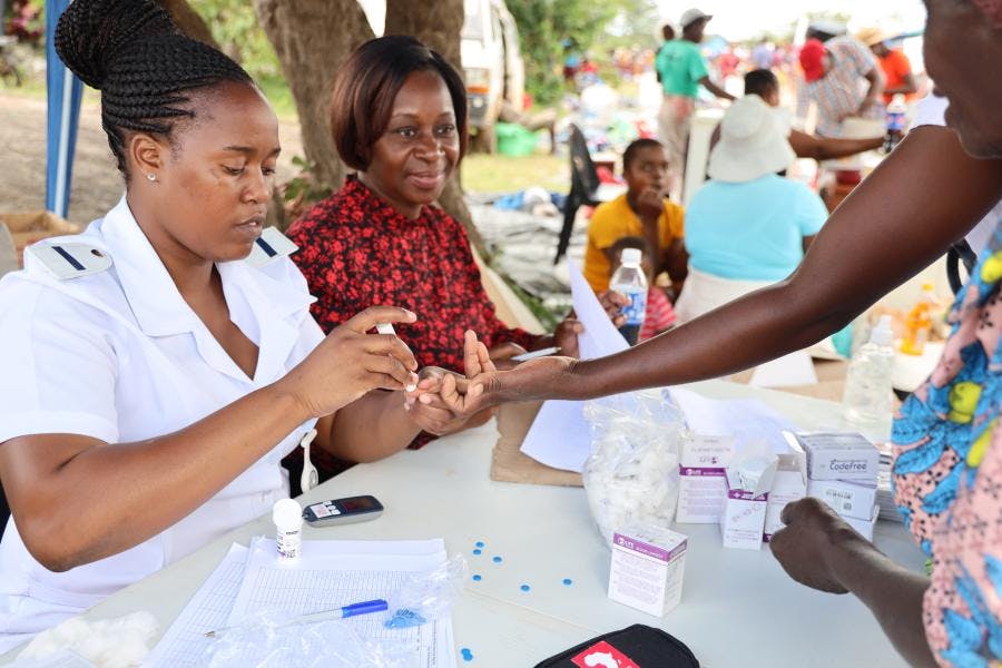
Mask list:
[[[611,546],[628,524],[667,527],[678,505],[678,462],[686,435],[678,409],[659,391],[590,401],[591,455],[582,479],[591,515]]]

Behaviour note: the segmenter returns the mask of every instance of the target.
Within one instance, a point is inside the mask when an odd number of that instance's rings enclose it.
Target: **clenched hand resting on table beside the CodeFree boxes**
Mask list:
[[[813,589],[846,593],[848,590],[839,582],[831,559],[849,542],[870,546],[868,541],[817,499],[788,503],[780,519],[786,527],[773,534],[769,549],[783,570]]]

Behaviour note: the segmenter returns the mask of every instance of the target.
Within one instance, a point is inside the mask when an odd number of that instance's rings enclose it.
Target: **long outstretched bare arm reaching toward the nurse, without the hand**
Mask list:
[[[951,130],[918,128],[843,202],[789,279],[560,376],[500,374],[494,389],[582,399],[717,377],[798,350],[940,257],[1000,194],[1002,161],[967,157]]]

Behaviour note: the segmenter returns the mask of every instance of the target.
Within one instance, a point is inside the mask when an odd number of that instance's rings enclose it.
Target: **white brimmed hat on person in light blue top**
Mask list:
[[[710,153],[714,180],[745,183],[789,167],[796,158],[788,128],[757,95],[735,101],[720,121],[720,141]]]

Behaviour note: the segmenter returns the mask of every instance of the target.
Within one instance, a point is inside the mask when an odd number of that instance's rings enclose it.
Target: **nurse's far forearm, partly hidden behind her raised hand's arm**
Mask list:
[[[337,412],[327,450],[350,462],[375,462],[405,449],[420,433],[399,392],[375,391]]]

